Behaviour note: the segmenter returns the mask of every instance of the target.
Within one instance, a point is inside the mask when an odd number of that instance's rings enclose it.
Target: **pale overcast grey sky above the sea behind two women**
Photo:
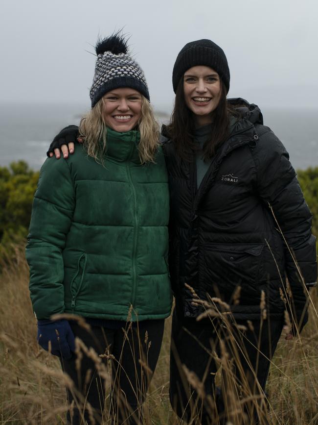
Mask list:
[[[170,112],[174,61],[201,38],[227,55],[229,97],[317,106],[317,0],[1,0],[0,101],[89,105],[87,50],[122,27],[157,109]]]

